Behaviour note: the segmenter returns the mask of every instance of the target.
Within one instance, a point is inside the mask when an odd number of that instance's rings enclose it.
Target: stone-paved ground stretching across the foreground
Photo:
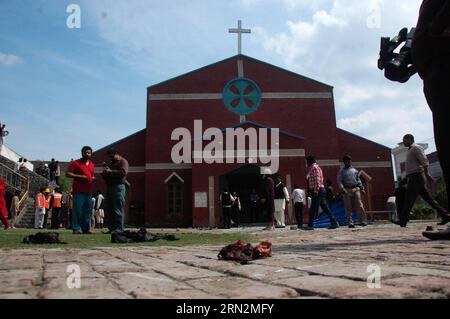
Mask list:
[[[219,261],[218,246],[1,250],[0,299],[449,298],[450,242],[423,238],[425,227],[246,228],[273,242],[272,258],[248,265]],[[80,289],[67,287],[71,264]],[[379,289],[367,286],[370,264]]]

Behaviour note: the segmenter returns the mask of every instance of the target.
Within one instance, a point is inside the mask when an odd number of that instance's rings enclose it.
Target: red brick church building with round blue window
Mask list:
[[[194,130],[196,120],[201,120],[200,132]],[[191,132],[190,161],[173,160],[177,128]],[[363,171],[368,210],[384,210],[393,192],[391,150],[336,127],[331,86],[238,54],[149,87],[147,128],[108,146],[130,164],[128,224],[218,226],[218,197],[224,187],[239,194],[244,223],[264,222],[247,210],[251,190],[259,189],[262,159],[250,156],[246,145],[234,156],[240,161],[228,161],[229,156],[219,152],[214,154],[224,163],[207,163],[201,150],[212,140],[206,136],[208,128],[223,133],[230,128],[266,129],[268,145],[274,142],[271,133],[279,132],[278,173],[290,191],[294,184],[306,187],[307,155],[315,155],[324,177],[335,182],[342,156],[350,154]],[[107,161],[106,148],[94,154],[99,169]]]

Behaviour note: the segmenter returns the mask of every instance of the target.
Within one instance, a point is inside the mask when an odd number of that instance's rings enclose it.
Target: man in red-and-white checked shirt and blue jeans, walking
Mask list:
[[[322,169],[317,165],[316,159],[314,156],[308,156],[306,158],[306,163],[309,167],[308,172],[308,186],[311,192],[311,208],[309,209],[309,223],[307,230],[314,229],[314,219],[317,216],[319,211],[319,206],[322,208],[325,214],[327,214],[330,219],[331,226],[329,229],[335,229],[339,227],[338,222],[333,217],[330,208],[328,207],[328,203],[326,200],[327,191],[325,190],[325,186],[323,184],[323,173]]]

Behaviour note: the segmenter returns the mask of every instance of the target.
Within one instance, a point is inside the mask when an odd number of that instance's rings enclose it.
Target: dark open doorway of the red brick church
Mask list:
[[[256,165],[243,166],[219,177],[219,194],[225,188],[230,193],[236,192],[241,202],[239,214],[240,224],[266,224],[267,216],[261,209],[259,197],[261,194],[262,175]]]

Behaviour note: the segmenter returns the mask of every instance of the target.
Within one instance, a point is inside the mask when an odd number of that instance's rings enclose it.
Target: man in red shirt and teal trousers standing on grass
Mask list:
[[[73,178],[72,230],[74,234],[92,234],[90,221],[92,215],[92,183],[94,164],[91,162],[92,148],[81,149],[81,158],[70,163],[66,176]]]

